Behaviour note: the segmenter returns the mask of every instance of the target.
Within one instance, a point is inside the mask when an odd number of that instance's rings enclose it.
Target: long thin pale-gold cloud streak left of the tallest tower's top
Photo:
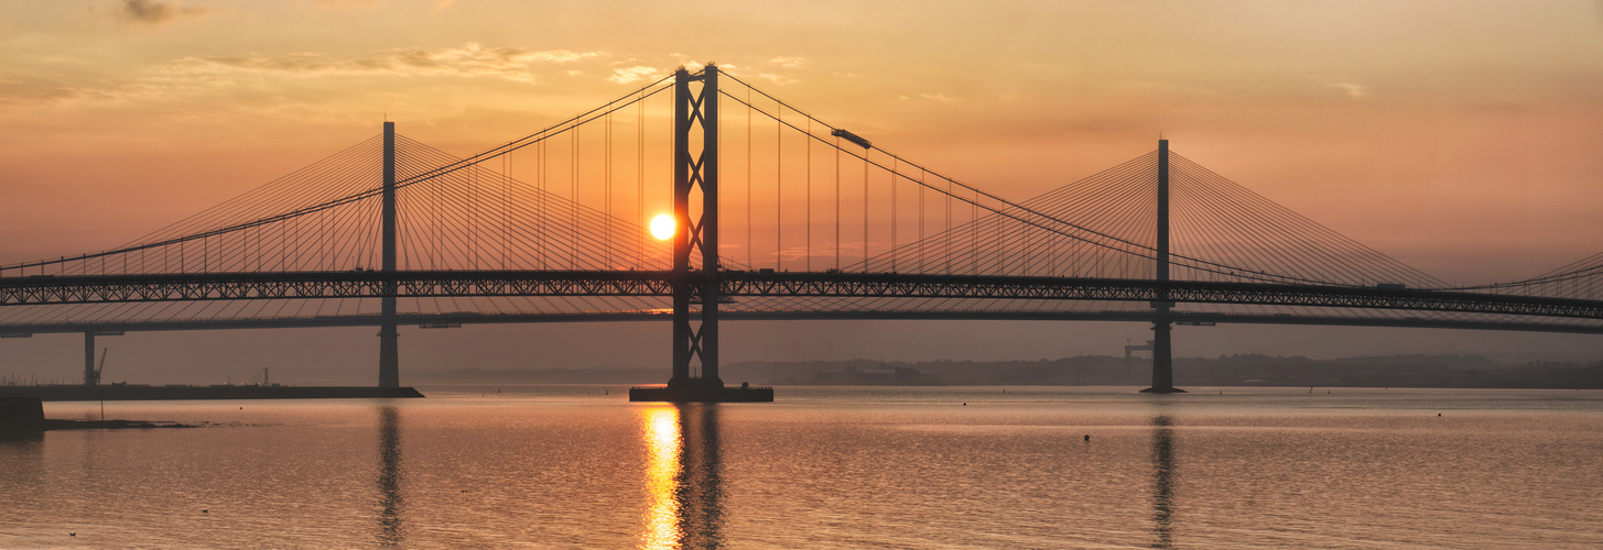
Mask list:
[[[532,83],[539,64],[567,64],[600,53],[569,50],[529,51],[487,48],[476,42],[460,48],[394,48],[364,56],[290,53],[279,56],[184,58],[167,69],[180,74],[277,72],[308,77],[401,75],[401,77],[484,77]]]

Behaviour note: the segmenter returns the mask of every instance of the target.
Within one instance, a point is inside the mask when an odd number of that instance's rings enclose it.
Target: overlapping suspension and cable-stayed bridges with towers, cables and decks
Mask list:
[[[119,331],[378,326],[398,387],[402,325],[667,320],[668,387],[715,392],[721,320],[842,318],[1151,323],[1148,390],[1177,392],[1175,325],[1603,334],[1603,253],[1452,286],[1167,141],[1013,201],[705,66],[471,157],[386,122],[127,245],[0,265],[0,336],[83,333],[91,385]]]

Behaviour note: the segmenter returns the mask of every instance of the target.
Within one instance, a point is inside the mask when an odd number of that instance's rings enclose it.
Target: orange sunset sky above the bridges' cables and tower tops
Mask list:
[[[8,2],[0,264],[378,131],[470,153],[684,62],[1002,197],[1154,149],[1449,281],[1603,251],[1597,2]]]

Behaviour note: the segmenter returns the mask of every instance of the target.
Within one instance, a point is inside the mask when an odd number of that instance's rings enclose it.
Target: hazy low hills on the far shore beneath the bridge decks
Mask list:
[[[410,384],[662,384],[667,368],[455,369],[407,373]],[[745,361],[726,384],[808,385],[1145,385],[1151,361],[1082,355],[1036,361]],[[1504,365],[1481,355],[1177,358],[1175,385],[1603,389],[1600,361]]]

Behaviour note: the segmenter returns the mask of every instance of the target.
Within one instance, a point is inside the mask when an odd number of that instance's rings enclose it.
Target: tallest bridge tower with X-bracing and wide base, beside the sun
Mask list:
[[[691,83],[701,90],[691,91]],[[696,133],[701,136],[696,136]],[[701,139],[694,139],[701,138]],[[694,155],[691,147],[699,145]],[[699,198],[692,201],[692,198]],[[728,389],[718,377],[718,66],[673,74],[673,376],[628,390],[630,401],[773,401],[773,389]],[[691,256],[701,254],[701,269]],[[701,305],[697,312],[692,304]],[[691,365],[699,363],[701,376]]]

